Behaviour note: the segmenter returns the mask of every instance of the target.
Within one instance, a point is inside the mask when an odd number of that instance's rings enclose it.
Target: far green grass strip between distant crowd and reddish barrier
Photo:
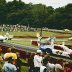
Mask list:
[[[24,32],[9,32],[9,34],[12,34],[14,36],[37,36],[38,32],[32,32],[32,31],[24,31]],[[0,32],[1,34],[6,34],[6,32]],[[72,36],[71,34],[63,34],[63,33],[55,33],[55,32],[48,32],[48,31],[42,31],[42,36]]]

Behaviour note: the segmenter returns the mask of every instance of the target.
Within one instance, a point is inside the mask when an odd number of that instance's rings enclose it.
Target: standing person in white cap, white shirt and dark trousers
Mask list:
[[[42,66],[42,52],[41,50],[37,50],[37,54],[34,56],[34,67],[35,67],[35,72],[40,72],[40,67]]]

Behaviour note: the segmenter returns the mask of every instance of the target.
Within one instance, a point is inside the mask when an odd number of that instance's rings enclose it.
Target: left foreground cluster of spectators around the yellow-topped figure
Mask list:
[[[20,59],[20,53],[15,52],[13,48],[8,48],[7,53],[2,54],[0,48],[0,72],[21,72],[21,66],[24,62]]]

